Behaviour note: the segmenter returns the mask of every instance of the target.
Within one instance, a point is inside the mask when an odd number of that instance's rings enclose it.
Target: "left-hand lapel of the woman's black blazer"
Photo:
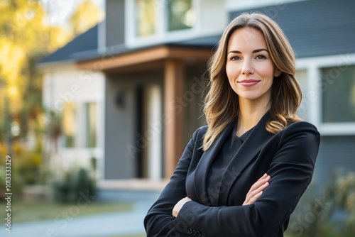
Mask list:
[[[222,131],[219,138],[217,138],[217,140],[215,140],[214,143],[212,143],[212,145],[202,154],[200,162],[198,162],[195,170],[195,192],[198,199],[207,206],[211,206],[207,192],[209,168],[211,167],[214,158],[216,158],[218,151],[221,149],[224,140],[226,140],[227,136],[233,129],[233,126],[234,123],[231,122],[226,128],[224,128],[224,131]]]

